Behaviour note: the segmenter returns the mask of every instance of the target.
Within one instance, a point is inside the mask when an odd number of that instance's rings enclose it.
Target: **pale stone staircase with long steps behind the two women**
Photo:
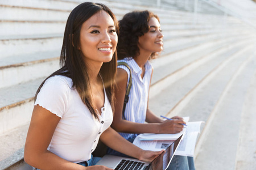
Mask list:
[[[0,169],[31,169],[23,151],[34,95],[59,68],[65,22],[81,2],[0,2]],[[151,61],[149,107],[159,116],[205,121],[196,169],[253,169],[256,30],[231,16],[193,14],[164,1],[97,2],[118,19],[145,9],[159,16],[164,50]]]

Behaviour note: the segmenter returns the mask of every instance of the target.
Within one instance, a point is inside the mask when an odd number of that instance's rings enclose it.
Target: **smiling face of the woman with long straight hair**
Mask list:
[[[111,61],[116,46],[114,21],[107,12],[97,12],[82,24],[79,49],[85,63]]]

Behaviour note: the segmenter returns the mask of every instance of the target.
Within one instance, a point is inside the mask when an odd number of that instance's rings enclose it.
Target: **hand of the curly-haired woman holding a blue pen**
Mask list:
[[[159,133],[171,133],[171,134],[180,133],[180,131],[182,131],[184,127],[181,124],[185,124],[183,119],[166,120],[166,121],[163,121],[161,124],[159,124],[158,131]]]

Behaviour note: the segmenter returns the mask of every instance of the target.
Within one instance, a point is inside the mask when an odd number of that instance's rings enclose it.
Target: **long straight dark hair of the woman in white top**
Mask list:
[[[75,7],[68,17],[65,27],[63,45],[60,54],[61,69],[55,71],[48,76],[50,78],[54,75],[63,75],[72,79],[73,88],[76,88],[82,101],[86,104],[94,117],[98,118],[96,109],[92,104],[92,97],[90,95],[90,84],[87,67],[84,64],[81,51],[77,48],[80,45],[80,30],[82,24],[91,16],[100,11],[106,11],[114,21],[115,29],[118,31],[118,21],[113,12],[101,3],[84,2]],[[100,69],[100,75],[104,81],[106,95],[109,102],[114,109],[114,76],[117,68],[117,53],[115,52],[110,62],[103,63]],[[48,79],[46,78],[46,80]],[[36,97],[42,88],[44,82],[36,91]]]

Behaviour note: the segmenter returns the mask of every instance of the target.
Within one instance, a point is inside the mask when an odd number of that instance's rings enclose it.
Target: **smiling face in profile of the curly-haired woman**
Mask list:
[[[158,19],[150,18],[148,21],[149,31],[139,37],[138,46],[141,52],[161,52],[163,50],[163,34]]]

